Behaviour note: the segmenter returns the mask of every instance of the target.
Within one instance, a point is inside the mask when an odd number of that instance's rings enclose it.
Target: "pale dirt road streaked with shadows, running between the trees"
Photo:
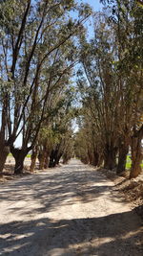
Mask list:
[[[0,223],[0,255],[143,255],[140,218],[76,160],[0,185]]]

